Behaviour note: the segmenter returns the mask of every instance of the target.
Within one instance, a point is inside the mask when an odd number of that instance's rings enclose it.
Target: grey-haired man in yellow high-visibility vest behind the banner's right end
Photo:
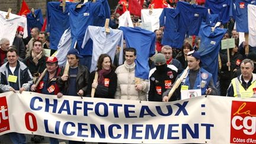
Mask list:
[[[256,74],[254,63],[251,59],[244,59],[240,65],[242,74],[233,78],[229,85],[228,97],[249,98],[256,96]]]

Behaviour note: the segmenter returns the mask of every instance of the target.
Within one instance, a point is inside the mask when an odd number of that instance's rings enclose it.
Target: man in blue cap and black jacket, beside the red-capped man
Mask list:
[[[85,91],[88,86],[89,71],[86,66],[79,65],[79,55],[77,49],[69,50],[67,59],[69,63],[68,75],[63,74],[64,69],[60,72],[61,77],[58,78],[57,84],[62,89],[57,94],[57,97],[62,97],[62,95],[76,95],[85,96]]]

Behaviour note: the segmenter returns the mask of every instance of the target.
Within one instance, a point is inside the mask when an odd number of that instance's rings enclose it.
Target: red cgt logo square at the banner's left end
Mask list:
[[[0,97],[0,133],[9,130],[8,105],[6,97]]]

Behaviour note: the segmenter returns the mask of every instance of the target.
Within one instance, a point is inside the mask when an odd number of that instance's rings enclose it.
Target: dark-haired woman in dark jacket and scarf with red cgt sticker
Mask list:
[[[97,81],[94,81],[95,73],[98,73]],[[111,57],[101,54],[97,62],[97,71],[91,72],[87,95],[91,95],[92,88],[95,88],[94,97],[114,98],[117,88],[117,75],[112,65]]]

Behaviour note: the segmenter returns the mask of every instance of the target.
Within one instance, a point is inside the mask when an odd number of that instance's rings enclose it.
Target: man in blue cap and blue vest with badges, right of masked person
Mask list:
[[[188,73],[181,82],[180,87],[175,90],[174,96],[172,97],[180,97],[183,92],[184,94],[190,94],[184,95],[184,97],[193,97],[195,95],[200,96],[205,94],[217,95],[217,89],[213,83],[212,74],[200,67],[200,59],[201,57],[199,52],[195,50],[188,52]],[[190,89],[191,91],[189,91]],[[171,89],[168,89],[164,92],[162,101],[168,101],[167,95],[170,90]],[[181,95],[181,98],[183,98],[183,95]]]

